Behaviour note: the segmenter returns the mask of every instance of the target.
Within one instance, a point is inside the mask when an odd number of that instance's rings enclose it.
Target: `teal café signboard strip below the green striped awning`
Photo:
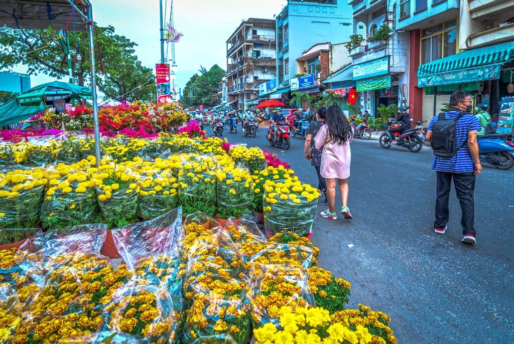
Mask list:
[[[500,65],[473,67],[418,77],[418,87],[463,84],[500,79]]]

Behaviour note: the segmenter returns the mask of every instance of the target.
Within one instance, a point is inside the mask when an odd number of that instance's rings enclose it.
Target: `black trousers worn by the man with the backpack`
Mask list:
[[[448,202],[450,198],[451,180],[455,185],[457,198],[462,209],[462,233],[463,235],[475,235],[475,175],[469,173],[449,173],[437,171],[437,199],[435,200],[435,228],[443,228],[450,215]]]

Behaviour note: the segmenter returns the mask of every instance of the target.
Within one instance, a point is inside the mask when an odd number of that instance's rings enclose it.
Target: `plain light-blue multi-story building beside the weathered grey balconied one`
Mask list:
[[[303,66],[298,69],[297,59],[309,47],[320,42],[347,42],[351,34],[351,6],[346,0],[288,0],[277,16],[279,91],[289,91],[290,80],[304,72]]]

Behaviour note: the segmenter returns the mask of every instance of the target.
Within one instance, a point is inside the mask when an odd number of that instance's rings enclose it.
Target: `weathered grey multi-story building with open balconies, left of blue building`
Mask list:
[[[275,21],[249,18],[227,41],[228,103],[244,109],[258,102],[259,85],[276,78]]]

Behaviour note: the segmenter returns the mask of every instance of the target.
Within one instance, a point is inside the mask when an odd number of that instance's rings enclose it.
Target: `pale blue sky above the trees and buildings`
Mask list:
[[[168,20],[172,1],[162,0],[163,7],[168,4]],[[117,34],[135,42],[139,60],[155,71],[155,64],[160,62],[159,0],[91,0],[91,3],[94,21],[99,26],[112,25]],[[200,65],[209,69],[217,64],[226,69],[226,41],[241,21],[249,17],[273,19],[286,4],[286,0],[174,0],[175,28],[183,33],[175,44],[177,87],[183,88]],[[166,44],[164,50],[166,56]],[[171,44],[168,57],[171,59]],[[27,71],[24,66],[13,70]],[[46,75],[31,75],[32,86],[49,81],[53,79]]]

